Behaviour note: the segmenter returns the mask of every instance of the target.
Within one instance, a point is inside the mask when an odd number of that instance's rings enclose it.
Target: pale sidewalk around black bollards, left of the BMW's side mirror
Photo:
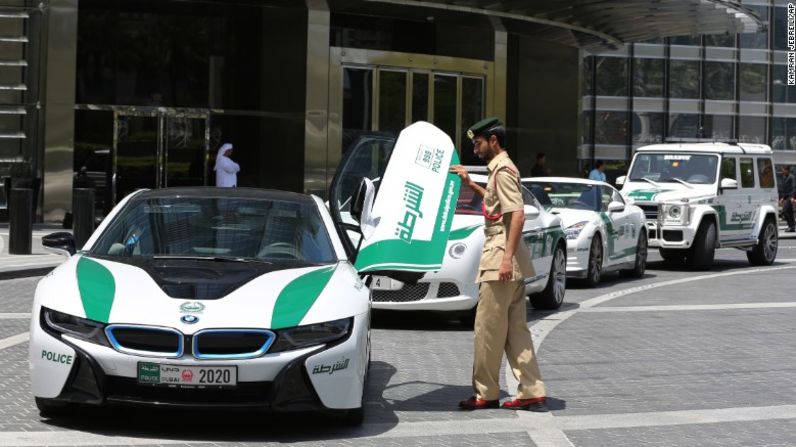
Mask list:
[[[34,225],[31,254],[8,254],[8,224],[0,224],[0,279],[21,278],[25,276],[45,275],[65,257],[50,253],[41,245],[42,236],[64,230],[53,225]]]

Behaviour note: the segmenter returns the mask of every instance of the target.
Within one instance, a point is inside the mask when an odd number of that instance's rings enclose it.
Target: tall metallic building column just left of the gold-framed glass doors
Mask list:
[[[329,132],[329,5],[307,2],[307,83],[304,115],[304,192],[326,197],[334,173]],[[335,162],[336,165],[336,162]]]

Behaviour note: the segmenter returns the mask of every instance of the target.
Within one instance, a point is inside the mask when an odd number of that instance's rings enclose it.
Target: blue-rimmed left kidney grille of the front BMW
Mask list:
[[[117,351],[128,354],[179,357],[183,352],[182,334],[174,329],[113,324],[105,334]]]

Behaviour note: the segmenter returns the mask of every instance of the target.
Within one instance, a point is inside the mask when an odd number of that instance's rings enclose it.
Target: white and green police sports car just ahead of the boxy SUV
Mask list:
[[[644,276],[647,232],[644,212],[626,203],[605,182],[567,177],[529,177],[522,184],[562,219],[567,239],[567,276],[589,286],[604,273]]]

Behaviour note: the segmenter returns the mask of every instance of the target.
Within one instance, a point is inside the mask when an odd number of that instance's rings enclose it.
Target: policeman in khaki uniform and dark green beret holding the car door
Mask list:
[[[520,175],[503,148],[505,129],[497,118],[473,124],[467,137],[473,152],[486,161],[486,189],[470,179],[461,165],[452,166],[483,197],[484,248],[476,282],[479,283],[475,316],[473,396],[459,403],[464,410],[497,408],[503,352],[519,381],[517,396],[503,403],[512,410],[546,411],[545,389],[526,320],[525,278],[535,275],[531,255],[522,241],[525,221]]]

